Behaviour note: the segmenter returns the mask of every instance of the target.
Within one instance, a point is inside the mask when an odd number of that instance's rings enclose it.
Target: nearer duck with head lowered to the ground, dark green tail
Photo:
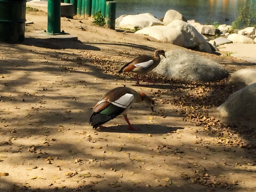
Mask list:
[[[154,112],[155,101],[146,93],[138,93],[130,87],[116,87],[108,91],[103,98],[94,106],[93,114],[90,117],[89,124],[93,129],[97,127],[104,128],[103,124],[109,122],[118,115],[123,115],[129,125],[130,130],[138,131],[129,122],[127,113],[133,103],[145,102]]]

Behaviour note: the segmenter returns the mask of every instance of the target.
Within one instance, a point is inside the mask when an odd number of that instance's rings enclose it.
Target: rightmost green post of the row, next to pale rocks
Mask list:
[[[106,24],[110,29],[115,29],[116,25],[116,2],[107,1],[106,3]]]

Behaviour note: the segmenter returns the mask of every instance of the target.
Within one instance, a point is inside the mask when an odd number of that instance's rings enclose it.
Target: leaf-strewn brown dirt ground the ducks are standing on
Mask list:
[[[47,28],[44,12],[26,18],[34,22],[26,36]],[[127,61],[183,48],[91,21],[61,18],[78,42],[0,43],[0,191],[256,191],[255,121],[216,109],[235,87],[155,74],[155,84],[135,86],[133,75],[117,74]],[[195,53],[230,73],[255,68],[226,53]],[[153,97],[155,113],[136,104],[129,118],[140,131],[122,116],[93,130],[93,106],[123,85]]]

